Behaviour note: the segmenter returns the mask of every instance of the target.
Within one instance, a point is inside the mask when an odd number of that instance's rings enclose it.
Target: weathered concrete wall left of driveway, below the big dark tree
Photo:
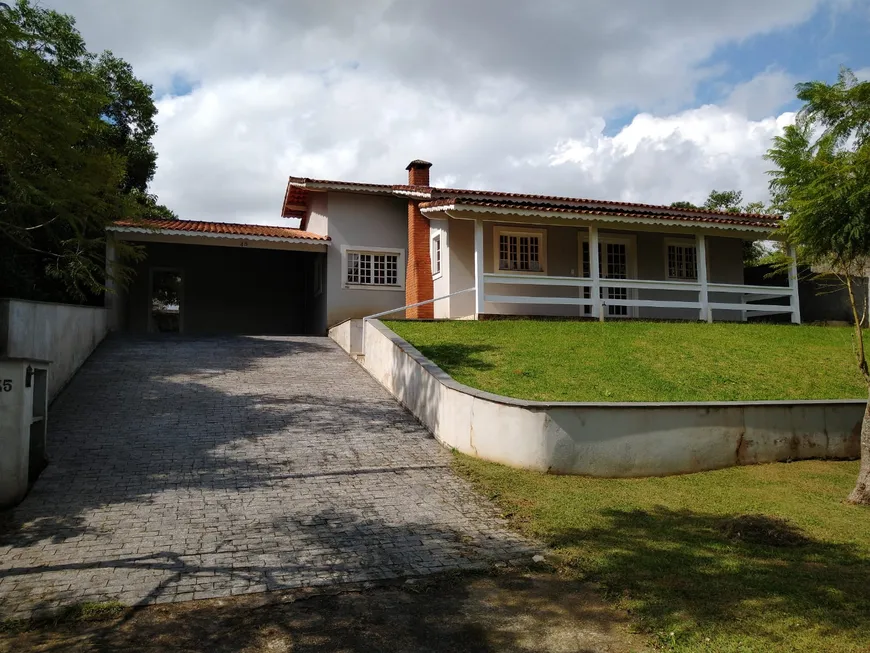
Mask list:
[[[0,356],[51,361],[54,399],[108,331],[105,308],[0,300]]]

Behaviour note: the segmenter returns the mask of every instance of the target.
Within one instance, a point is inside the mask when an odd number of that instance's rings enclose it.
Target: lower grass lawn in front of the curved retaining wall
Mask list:
[[[661,649],[870,650],[870,509],[843,502],[857,462],[612,480],[455,466]]]

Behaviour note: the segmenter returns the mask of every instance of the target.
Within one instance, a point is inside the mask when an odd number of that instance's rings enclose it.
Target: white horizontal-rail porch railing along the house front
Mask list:
[[[595,317],[606,315],[608,306],[625,306],[628,308],[676,308],[694,309],[698,311],[699,319],[712,321],[714,310],[740,311],[742,319],[749,316],[789,314],[793,322],[800,322],[800,311],[797,302],[797,285],[789,286],[747,286],[726,283],[703,283],[700,281],[652,281],[645,279],[607,279],[594,280],[589,277],[547,277],[530,274],[496,273],[484,274],[483,299],[491,304],[536,304],[549,306],[589,306],[590,314]],[[601,288],[602,297],[596,302],[592,288],[595,284]],[[488,285],[521,286],[521,287],[560,287],[576,288],[577,296],[541,296],[536,293],[517,295],[489,294]],[[584,289],[589,288],[585,293]],[[626,290],[625,298],[608,297],[609,289]],[[641,299],[637,295],[643,291],[670,291],[680,293],[695,293],[694,299]],[[588,294],[588,297],[584,297]],[[634,296],[632,296],[634,295]],[[721,297],[728,295],[728,297]],[[736,297],[735,297],[736,296]],[[771,299],[788,298],[789,303],[765,304]],[[735,301],[736,299],[736,301]],[[705,301],[706,300],[706,301]],[[753,302],[753,303],[750,303]],[[611,315],[610,317],[619,317]]]

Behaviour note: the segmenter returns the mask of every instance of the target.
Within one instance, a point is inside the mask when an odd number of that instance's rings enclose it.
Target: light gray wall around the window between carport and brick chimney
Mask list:
[[[327,252],[326,321],[329,326],[405,305],[405,266],[408,249],[408,203],[393,197],[330,192],[328,228],[332,246]],[[398,289],[348,288],[342,275],[343,249],[401,250]],[[397,314],[397,317],[401,317]]]

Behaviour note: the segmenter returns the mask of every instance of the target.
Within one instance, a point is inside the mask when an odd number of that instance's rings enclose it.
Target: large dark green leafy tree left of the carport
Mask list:
[[[151,88],[111,53],[89,53],[72,17],[29,0],[0,7],[0,70],[0,294],[94,301],[105,227],[168,211],[146,192]],[[113,275],[123,285],[129,268]]]

